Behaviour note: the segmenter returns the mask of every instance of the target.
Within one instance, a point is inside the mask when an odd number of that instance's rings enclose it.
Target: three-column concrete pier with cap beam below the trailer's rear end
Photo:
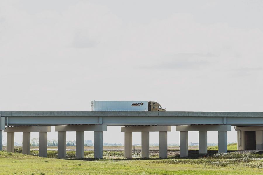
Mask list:
[[[103,158],[103,131],[107,125],[64,125],[55,126],[58,132],[58,158],[66,157],[66,132],[76,132],[76,158],[84,158],[84,131],[94,131],[94,158]]]

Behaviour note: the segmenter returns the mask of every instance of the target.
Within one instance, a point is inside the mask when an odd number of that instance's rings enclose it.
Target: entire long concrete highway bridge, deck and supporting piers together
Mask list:
[[[207,131],[218,131],[219,152],[227,152],[227,131],[236,126],[238,150],[263,150],[263,112],[136,111],[0,111],[7,132],[7,151],[14,152],[14,133],[23,132],[23,154],[30,154],[30,132],[39,132],[39,156],[46,157],[47,132],[58,132],[58,157],[66,156],[66,132],[76,131],[76,157],[84,157],[84,131],[94,131],[94,158],[102,158],[107,125],[124,126],[124,156],[132,158],[132,132],[142,134],[142,157],[149,157],[149,132],[159,132],[159,157],[167,158],[167,132],[180,132],[180,157],[188,156],[188,131],[199,132],[199,153],[207,154]],[[183,126],[178,126],[183,125]],[[6,126],[6,127],[5,127]],[[249,139],[247,139],[249,138]],[[249,140],[249,141],[247,141]]]

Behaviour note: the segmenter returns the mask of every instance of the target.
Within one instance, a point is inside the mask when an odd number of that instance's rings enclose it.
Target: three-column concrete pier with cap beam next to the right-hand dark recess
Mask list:
[[[188,131],[199,132],[199,154],[207,154],[207,131],[218,131],[218,152],[227,152],[227,131],[231,125],[186,125],[176,126],[180,131],[180,157],[188,157]]]

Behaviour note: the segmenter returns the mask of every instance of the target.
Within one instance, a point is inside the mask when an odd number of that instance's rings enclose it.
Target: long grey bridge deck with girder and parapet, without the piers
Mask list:
[[[20,125],[263,125],[263,112],[1,111],[6,126]]]

